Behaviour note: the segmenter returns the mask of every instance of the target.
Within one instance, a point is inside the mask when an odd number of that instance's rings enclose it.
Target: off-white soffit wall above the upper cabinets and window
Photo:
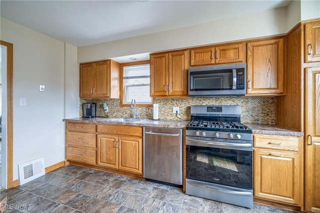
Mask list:
[[[78,47],[78,62],[286,33],[286,7]]]

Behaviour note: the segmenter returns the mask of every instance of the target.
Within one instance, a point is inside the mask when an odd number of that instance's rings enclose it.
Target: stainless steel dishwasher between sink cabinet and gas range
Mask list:
[[[182,129],[143,127],[143,176],[182,185]]]

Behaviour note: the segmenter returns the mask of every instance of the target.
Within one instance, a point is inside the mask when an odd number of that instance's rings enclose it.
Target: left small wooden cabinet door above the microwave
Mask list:
[[[190,50],[190,66],[214,64],[214,47],[201,47]]]

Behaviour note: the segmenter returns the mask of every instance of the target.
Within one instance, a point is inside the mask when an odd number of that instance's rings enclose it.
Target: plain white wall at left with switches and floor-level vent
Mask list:
[[[44,156],[47,167],[64,160],[64,65],[68,67],[65,70],[67,76],[69,70],[74,72],[76,53],[75,47],[66,45],[66,57],[70,61],[64,63],[63,42],[2,17],[1,40],[13,43],[15,180],[18,178],[19,163]],[[73,74],[76,76],[76,73]],[[66,87],[70,88],[68,83]],[[38,91],[39,84],[45,84],[45,92]],[[19,105],[20,97],[26,98],[25,106]],[[74,110],[78,111],[78,100],[76,103]]]

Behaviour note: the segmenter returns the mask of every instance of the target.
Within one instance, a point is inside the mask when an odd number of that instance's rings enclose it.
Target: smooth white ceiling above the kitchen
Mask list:
[[[287,6],[290,0],[0,0],[0,15],[84,46]]]

